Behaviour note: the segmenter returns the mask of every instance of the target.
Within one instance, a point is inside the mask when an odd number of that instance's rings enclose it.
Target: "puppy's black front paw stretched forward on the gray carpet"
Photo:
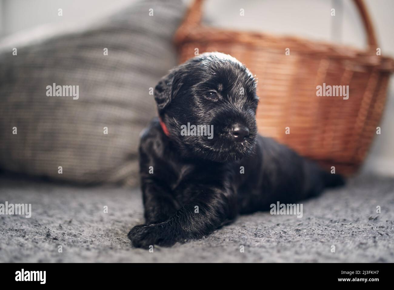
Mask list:
[[[169,247],[181,241],[181,234],[167,223],[134,226],[128,233],[132,245],[148,249],[150,245]]]

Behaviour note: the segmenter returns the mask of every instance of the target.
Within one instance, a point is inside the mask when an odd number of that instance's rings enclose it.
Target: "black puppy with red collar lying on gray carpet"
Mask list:
[[[146,224],[128,234],[135,247],[201,238],[238,213],[269,210],[277,201],[293,203],[343,183],[257,134],[256,80],[227,54],[204,53],[175,67],[154,97],[160,118],[141,137]],[[190,124],[203,127],[184,130]]]

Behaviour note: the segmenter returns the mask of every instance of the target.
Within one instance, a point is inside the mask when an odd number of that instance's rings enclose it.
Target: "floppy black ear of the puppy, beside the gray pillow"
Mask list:
[[[154,99],[159,112],[171,103],[181,86],[182,82],[175,71],[169,73],[158,82],[154,88]]]

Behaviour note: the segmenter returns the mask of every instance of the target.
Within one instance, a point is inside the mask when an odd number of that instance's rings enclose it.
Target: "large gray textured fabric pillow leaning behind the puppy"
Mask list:
[[[2,52],[0,168],[135,185],[139,133],[156,115],[150,88],[177,64],[184,11],[181,0],[137,2],[94,29]]]

